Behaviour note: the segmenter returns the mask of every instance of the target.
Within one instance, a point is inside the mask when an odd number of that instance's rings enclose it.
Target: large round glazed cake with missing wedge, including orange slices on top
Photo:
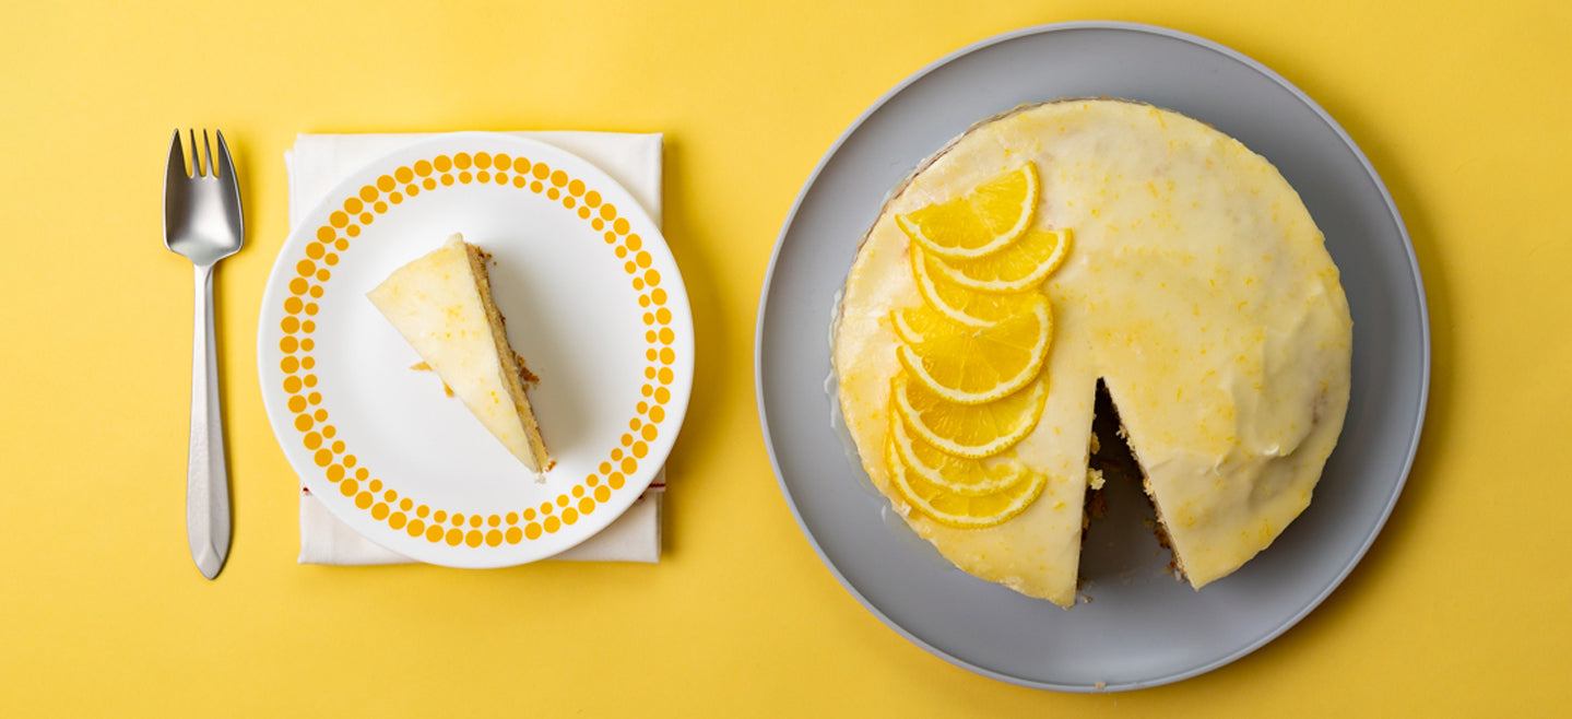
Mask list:
[[[1061,101],[975,126],[890,200],[833,362],[912,529],[1071,606],[1099,379],[1199,588],[1309,503],[1350,341],[1338,269],[1272,164],[1179,113]]]

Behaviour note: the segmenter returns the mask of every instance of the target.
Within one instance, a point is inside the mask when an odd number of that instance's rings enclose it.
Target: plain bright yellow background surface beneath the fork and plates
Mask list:
[[[16,5],[0,716],[1567,711],[1566,3]],[[1320,609],[1196,680],[1060,695],[929,656],[819,563],[766,459],[753,319],[792,198],[869,102],[973,41],[1097,17],[1242,50],[1342,123],[1413,234],[1435,373],[1402,500]],[[219,271],[236,518],[217,582],[182,527],[190,269],[160,245],[163,156],[187,126],[230,137],[248,219]],[[667,132],[704,381],[659,566],[294,563],[296,485],[253,360],[288,234],[281,153],[297,132],[437,129]]]

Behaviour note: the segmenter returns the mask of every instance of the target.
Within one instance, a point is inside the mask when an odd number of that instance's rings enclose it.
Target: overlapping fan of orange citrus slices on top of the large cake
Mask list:
[[[1014,456],[1042,418],[1053,312],[1042,283],[1071,231],[1033,227],[1038,170],[1006,170],[960,197],[896,216],[923,305],[896,310],[890,483],[938,524],[984,529],[1025,511],[1047,477]]]

